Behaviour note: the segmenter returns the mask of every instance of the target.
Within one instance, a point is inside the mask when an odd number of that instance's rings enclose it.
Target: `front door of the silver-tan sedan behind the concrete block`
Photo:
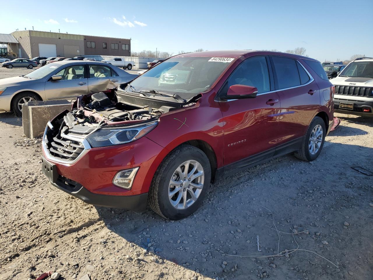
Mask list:
[[[52,63],[48,67],[57,66]],[[46,81],[45,94],[48,100],[70,100],[78,95],[88,93],[88,79],[85,75],[84,64],[67,66],[54,75],[62,75],[62,80],[53,81],[52,78],[49,78]]]

